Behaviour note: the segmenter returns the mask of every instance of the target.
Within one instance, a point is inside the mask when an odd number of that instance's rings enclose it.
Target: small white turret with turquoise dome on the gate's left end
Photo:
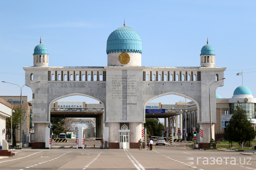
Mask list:
[[[41,37],[40,37],[40,44],[38,44],[37,46],[35,46],[34,49],[34,66],[36,67],[46,67],[49,64],[49,54],[48,54],[48,50],[45,47],[45,45],[41,44]]]

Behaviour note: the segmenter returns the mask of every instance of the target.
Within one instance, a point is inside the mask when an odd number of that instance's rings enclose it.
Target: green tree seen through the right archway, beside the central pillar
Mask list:
[[[147,128],[147,134],[152,136],[162,136],[164,126],[159,122],[158,118],[146,118],[144,127]]]

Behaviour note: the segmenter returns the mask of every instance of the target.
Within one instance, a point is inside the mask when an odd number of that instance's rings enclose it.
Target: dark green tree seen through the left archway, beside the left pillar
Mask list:
[[[58,136],[59,133],[66,133],[64,125],[65,125],[65,117],[51,117],[51,124],[52,124],[52,133],[55,136]]]

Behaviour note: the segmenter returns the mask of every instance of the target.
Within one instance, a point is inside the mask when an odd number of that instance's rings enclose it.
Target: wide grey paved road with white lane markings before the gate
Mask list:
[[[1,170],[256,170],[253,152],[193,150],[184,144],[158,145],[153,150],[91,147],[15,152],[0,159]]]

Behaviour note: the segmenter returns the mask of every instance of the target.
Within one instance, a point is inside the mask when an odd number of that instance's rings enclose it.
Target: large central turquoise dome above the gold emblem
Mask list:
[[[130,27],[120,27],[114,30],[107,40],[107,54],[115,52],[142,53],[142,40],[140,35]]]

